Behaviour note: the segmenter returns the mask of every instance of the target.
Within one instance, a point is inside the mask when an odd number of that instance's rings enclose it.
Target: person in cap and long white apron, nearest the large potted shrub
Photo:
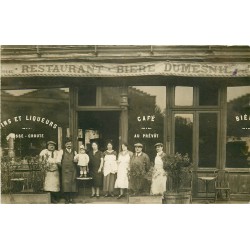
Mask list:
[[[163,168],[166,154],[163,152],[163,144],[156,143],[156,157],[154,162],[152,184],[150,193],[152,195],[163,195],[166,191],[167,173]]]

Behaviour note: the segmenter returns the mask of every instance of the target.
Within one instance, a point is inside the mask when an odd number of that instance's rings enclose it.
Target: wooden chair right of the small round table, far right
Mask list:
[[[216,171],[215,179],[215,198],[216,201],[218,196],[223,197],[223,192],[226,194],[226,198],[230,200],[230,186],[229,186],[229,172],[224,169],[219,169]]]

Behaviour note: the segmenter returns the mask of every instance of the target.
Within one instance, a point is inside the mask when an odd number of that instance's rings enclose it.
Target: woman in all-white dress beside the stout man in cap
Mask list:
[[[122,151],[118,155],[118,170],[115,182],[115,188],[120,188],[120,194],[117,199],[123,197],[124,189],[128,188],[128,169],[132,155],[133,153],[128,151],[128,145],[123,143]]]

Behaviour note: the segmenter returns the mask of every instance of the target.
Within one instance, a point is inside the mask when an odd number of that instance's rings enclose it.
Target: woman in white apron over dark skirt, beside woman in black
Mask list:
[[[115,177],[117,173],[117,153],[113,150],[112,142],[108,142],[107,150],[103,153],[103,191],[106,193],[105,197],[114,196]]]

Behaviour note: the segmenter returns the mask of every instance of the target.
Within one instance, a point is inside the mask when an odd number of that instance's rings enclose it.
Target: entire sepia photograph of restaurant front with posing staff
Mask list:
[[[250,47],[1,46],[1,203],[250,201]]]

